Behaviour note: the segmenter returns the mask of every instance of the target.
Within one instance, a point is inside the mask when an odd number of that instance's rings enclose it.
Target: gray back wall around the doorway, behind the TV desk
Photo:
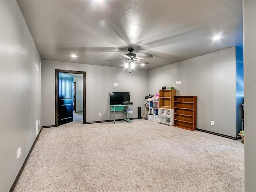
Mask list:
[[[42,60],[43,126],[55,124],[55,69],[86,72],[86,122],[110,120],[109,92],[130,92],[134,117],[138,117],[138,106],[144,106],[148,71],[132,70],[129,74],[124,68]],[[123,118],[120,112],[118,114],[116,118]]]

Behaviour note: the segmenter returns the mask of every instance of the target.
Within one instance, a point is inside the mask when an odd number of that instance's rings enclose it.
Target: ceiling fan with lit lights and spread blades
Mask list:
[[[145,55],[145,56],[140,56],[140,57],[137,57],[136,54],[132,53],[133,52],[133,48],[132,47],[129,47],[128,48],[128,52],[130,53],[127,53],[127,54],[121,54],[125,60],[126,60],[126,63],[140,63],[142,65],[147,65],[149,64],[149,62],[146,62],[146,61],[142,61],[141,59],[146,59],[146,58],[152,58],[153,56],[152,55]],[[116,60],[108,60],[108,61],[117,61],[117,60],[123,60],[123,59],[116,59]]]

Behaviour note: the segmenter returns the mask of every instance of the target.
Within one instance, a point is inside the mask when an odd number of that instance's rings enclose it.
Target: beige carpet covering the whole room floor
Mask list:
[[[244,192],[244,144],[147,120],[44,128],[15,192]]]

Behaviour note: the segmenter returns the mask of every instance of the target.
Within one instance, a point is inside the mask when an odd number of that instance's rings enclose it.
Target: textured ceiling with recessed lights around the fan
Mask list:
[[[17,0],[44,60],[150,70],[242,46],[242,0]],[[220,40],[211,38],[222,35]],[[77,58],[71,58],[76,54]],[[118,60],[119,61],[107,61]]]

